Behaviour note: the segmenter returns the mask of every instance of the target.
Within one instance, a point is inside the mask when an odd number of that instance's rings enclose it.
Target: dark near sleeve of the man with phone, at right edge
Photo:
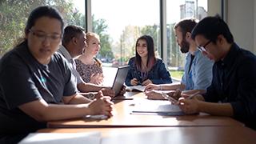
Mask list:
[[[255,58],[242,58],[238,67],[237,98],[230,102],[234,118],[244,122],[256,120],[256,61]]]

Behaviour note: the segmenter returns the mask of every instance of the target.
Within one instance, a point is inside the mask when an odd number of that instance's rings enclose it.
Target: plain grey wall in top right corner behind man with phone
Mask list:
[[[234,35],[234,41],[254,54],[256,52],[255,5],[254,0],[228,0],[226,10],[227,23]]]

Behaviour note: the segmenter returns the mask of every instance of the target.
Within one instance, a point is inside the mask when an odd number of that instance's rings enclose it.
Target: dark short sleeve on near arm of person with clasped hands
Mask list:
[[[0,73],[2,96],[9,109],[41,98],[27,66],[17,57],[10,57]]]

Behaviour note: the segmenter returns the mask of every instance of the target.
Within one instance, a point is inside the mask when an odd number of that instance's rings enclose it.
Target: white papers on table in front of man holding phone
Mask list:
[[[141,100],[136,103],[132,113],[154,113],[160,115],[183,115],[184,113],[177,105],[162,100]]]

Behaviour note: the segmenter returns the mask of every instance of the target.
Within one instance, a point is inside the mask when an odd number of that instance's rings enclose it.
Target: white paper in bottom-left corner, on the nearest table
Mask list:
[[[23,138],[19,144],[100,144],[101,134],[99,132],[90,133],[31,133]]]

